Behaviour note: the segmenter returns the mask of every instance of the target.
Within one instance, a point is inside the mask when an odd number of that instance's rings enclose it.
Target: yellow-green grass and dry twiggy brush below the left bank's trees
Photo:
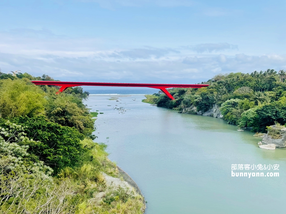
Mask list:
[[[122,179],[116,163],[108,159],[106,145],[91,139],[81,144],[83,154],[76,166],[67,166],[54,177],[45,171],[41,171],[43,175],[40,171],[32,175],[12,171],[10,175],[9,162],[0,156],[0,199],[7,197],[0,213],[142,214],[144,198],[134,189],[106,185],[102,172]],[[105,192],[102,199],[97,197],[100,192]]]

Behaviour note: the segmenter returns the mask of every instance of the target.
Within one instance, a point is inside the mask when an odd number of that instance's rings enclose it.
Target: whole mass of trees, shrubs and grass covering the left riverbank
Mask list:
[[[142,213],[140,195],[106,186],[102,172],[118,177],[118,169],[93,142],[98,113],[82,102],[88,92],[55,94],[35,79],[53,80],[0,72],[0,213]]]

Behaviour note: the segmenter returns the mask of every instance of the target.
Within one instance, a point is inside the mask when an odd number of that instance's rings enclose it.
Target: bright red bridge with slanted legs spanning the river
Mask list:
[[[56,85],[61,86],[59,92],[63,92],[68,87],[74,86],[120,86],[120,87],[148,87],[162,90],[169,98],[174,97],[166,90],[166,88],[202,88],[209,85],[206,84],[144,84],[144,83],[109,83],[109,82],[60,82],[60,81],[41,81],[32,80],[35,85]]]

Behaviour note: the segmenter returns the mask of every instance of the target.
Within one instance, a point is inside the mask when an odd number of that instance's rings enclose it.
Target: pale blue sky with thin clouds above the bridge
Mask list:
[[[0,68],[174,84],[286,69],[285,9],[275,0],[0,0]]]

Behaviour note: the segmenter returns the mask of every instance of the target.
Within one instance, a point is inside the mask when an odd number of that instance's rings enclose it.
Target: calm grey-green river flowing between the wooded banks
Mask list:
[[[111,97],[91,95],[85,102],[104,113],[95,122],[96,142],[107,144],[110,160],[138,184],[146,214],[285,213],[285,148],[260,149],[262,138],[254,133],[151,106],[142,95]],[[279,164],[279,177],[232,177],[231,164]]]

